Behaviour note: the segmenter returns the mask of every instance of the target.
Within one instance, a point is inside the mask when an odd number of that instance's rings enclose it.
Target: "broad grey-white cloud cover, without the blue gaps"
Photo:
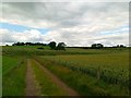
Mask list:
[[[21,23],[21,25],[50,29],[45,35],[35,32],[38,37],[28,38],[24,36],[28,33],[21,33],[23,38],[28,41],[55,39],[66,41],[70,46],[86,46],[95,41],[111,45],[119,41],[128,42],[127,36],[119,34],[102,36],[99,33],[128,25],[128,2],[15,2],[3,3],[2,16],[7,22],[14,20],[11,22],[17,21],[17,24]],[[15,41],[14,37],[8,39],[4,37],[3,40]]]

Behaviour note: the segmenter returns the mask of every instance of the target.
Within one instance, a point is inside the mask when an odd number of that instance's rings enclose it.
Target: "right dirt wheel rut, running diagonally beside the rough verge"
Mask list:
[[[46,68],[44,68],[44,65],[41,65],[39,62],[37,62],[36,60],[34,60],[36,62],[37,65],[39,65],[40,69],[44,70],[44,72],[50,76],[50,78],[52,79],[52,82],[56,83],[56,85],[58,85],[59,87],[61,87],[63,90],[66,90],[69,96],[79,96],[79,94],[73,90],[72,88],[70,88],[69,86],[67,86],[61,79],[59,79],[55,74],[52,74],[51,72],[49,72]]]

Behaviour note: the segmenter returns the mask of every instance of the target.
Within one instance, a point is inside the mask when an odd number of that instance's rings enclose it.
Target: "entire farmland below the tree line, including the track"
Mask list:
[[[2,47],[3,96],[129,95],[129,48],[37,48]]]

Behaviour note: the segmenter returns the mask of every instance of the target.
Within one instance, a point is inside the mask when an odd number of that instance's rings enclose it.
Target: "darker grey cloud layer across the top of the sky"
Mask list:
[[[75,26],[82,16],[110,16],[127,11],[128,3],[88,3],[88,2],[13,2],[3,3],[3,17],[26,19],[43,22],[56,22],[58,27]],[[111,14],[107,12],[112,12]],[[9,16],[10,14],[10,16]],[[92,14],[92,15],[91,15]],[[105,16],[106,17],[106,16]]]

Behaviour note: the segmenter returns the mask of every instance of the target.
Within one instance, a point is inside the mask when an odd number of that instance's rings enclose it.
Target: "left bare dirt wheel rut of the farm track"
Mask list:
[[[25,89],[26,96],[39,96],[40,90],[37,87],[35,76],[33,73],[33,69],[31,65],[31,60],[27,59],[27,70],[26,70],[26,89]]]

